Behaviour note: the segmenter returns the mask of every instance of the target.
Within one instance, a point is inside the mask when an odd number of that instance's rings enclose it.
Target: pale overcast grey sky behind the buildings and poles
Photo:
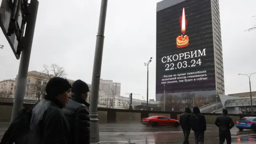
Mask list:
[[[1,0],[0,0],[1,1]],[[156,3],[161,0],[108,0],[101,78],[121,82],[121,94],[155,99]],[[256,0],[219,0],[226,94],[248,92],[248,77],[256,72]],[[65,68],[68,78],[92,81],[92,67],[101,0],[40,0],[29,70],[44,64]],[[19,60],[0,32],[0,80],[15,78]],[[256,91],[256,74],[251,77]],[[136,98],[136,97],[135,97]],[[137,98],[140,98],[137,96]],[[141,98],[140,98],[141,99]]]

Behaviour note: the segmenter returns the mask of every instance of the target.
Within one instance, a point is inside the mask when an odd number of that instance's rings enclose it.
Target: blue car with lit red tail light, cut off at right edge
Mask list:
[[[239,130],[249,129],[256,132],[256,117],[244,117],[236,121],[236,127]]]

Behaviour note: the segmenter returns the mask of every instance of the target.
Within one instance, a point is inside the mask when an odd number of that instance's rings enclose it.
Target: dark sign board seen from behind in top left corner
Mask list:
[[[1,7],[0,7],[0,27],[4,33],[4,36],[6,37],[7,41],[9,42],[15,57],[17,59],[19,59],[20,54],[17,54],[18,43],[19,43],[18,40],[20,40],[20,37],[23,36],[23,32],[22,32],[22,34],[20,34],[19,37],[17,37],[17,36],[18,36],[18,32],[20,32],[20,29],[22,27],[22,18],[23,18],[22,10],[24,10],[23,2],[27,2],[27,0],[21,0],[21,3],[18,4],[18,8],[17,8],[18,11],[16,12],[16,14],[14,14],[14,16],[15,15],[17,16],[17,19],[16,19],[17,21],[14,23],[16,24],[18,30],[16,32],[14,32],[13,34],[9,34],[9,36],[8,36],[8,30],[10,30],[10,22],[11,22],[11,16],[12,16],[12,7],[11,6],[13,5],[12,4],[13,2],[14,2],[14,0],[2,0]]]

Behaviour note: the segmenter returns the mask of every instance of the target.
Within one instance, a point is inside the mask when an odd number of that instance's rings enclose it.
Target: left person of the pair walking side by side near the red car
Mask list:
[[[191,116],[190,108],[185,108],[185,112],[180,115],[180,125],[184,134],[183,144],[189,144],[188,138],[190,135],[191,126],[189,124],[189,118]]]

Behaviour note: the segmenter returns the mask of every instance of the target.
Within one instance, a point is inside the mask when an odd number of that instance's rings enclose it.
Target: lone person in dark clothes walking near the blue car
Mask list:
[[[219,144],[223,144],[225,139],[227,144],[231,144],[230,129],[233,128],[234,122],[232,118],[228,116],[228,110],[223,109],[222,115],[216,118],[214,124],[219,127]]]

